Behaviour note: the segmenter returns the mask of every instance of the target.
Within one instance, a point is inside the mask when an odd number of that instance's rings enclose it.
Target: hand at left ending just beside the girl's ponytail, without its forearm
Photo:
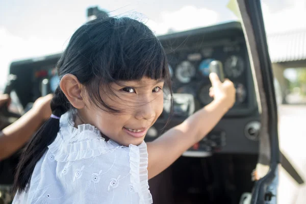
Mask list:
[[[52,98],[53,94],[39,97],[33,105],[33,109],[37,112],[37,114],[39,114],[41,120],[43,121],[49,119],[50,115],[52,114],[50,106]]]

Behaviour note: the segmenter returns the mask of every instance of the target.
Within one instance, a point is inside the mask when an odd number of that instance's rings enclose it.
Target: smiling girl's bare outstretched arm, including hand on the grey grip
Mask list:
[[[235,103],[235,87],[231,81],[220,82],[210,75],[214,97],[211,104],[188,117],[153,142],[147,143],[148,177],[151,179],[170,166],[184,151],[205,137]]]

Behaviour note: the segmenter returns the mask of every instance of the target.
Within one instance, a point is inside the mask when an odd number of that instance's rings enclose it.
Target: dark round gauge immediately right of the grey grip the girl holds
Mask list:
[[[244,71],[244,61],[241,57],[232,55],[225,60],[224,72],[227,77],[237,78]]]

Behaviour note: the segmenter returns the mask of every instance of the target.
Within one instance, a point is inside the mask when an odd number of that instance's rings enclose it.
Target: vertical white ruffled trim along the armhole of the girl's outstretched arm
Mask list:
[[[130,144],[129,148],[131,183],[140,196],[139,203],[151,204],[153,200],[148,184],[148,152],[146,143],[142,142],[139,146]]]

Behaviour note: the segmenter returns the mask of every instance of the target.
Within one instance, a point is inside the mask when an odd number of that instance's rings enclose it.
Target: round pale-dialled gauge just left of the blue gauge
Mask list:
[[[195,76],[195,67],[189,61],[183,61],[177,65],[175,76],[181,83],[189,83]]]

